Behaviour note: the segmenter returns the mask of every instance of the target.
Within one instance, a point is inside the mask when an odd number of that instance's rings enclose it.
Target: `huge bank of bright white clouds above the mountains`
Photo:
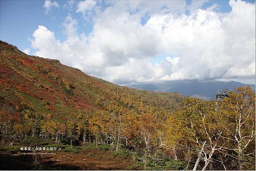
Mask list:
[[[77,34],[78,22],[69,14],[62,23],[65,41],[38,26],[32,47],[38,56],[116,83],[255,78],[254,4],[230,1],[232,11],[224,15],[212,11],[216,5],[202,10],[194,4],[188,16],[184,1],[157,2],[108,2],[89,35]],[[77,12],[94,9],[95,1],[82,1]],[[145,15],[150,19],[141,25]],[[166,59],[152,65],[150,58],[160,54]]]

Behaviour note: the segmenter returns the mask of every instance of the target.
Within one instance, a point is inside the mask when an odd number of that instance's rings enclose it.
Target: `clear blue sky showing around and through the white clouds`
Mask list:
[[[250,3],[255,3],[254,0],[246,0]],[[78,32],[89,34],[93,25],[86,22],[81,18],[81,14],[75,11],[64,9],[65,0],[57,0],[60,7],[52,9],[48,14],[45,14],[44,0],[0,0],[0,39],[8,43],[16,45],[19,49],[23,50],[30,48],[31,37],[38,25],[46,26],[49,30],[54,31],[55,37],[60,41],[65,40],[65,35],[62,33],[61,23],[69,13],[78,19]],[[191,0],[186,1],[187,4]],[[218,3],[220,12],[230,12],[231,7],[229,0],[210,0],[204,3],[202,9],[207,9],[214,3]],[[105,5],[103,1],[103,5]],[[150,16],[146,15],[141,20],[144,25]],[[32,49],[33,50],[33,49]],[[158,58],[152,58],[152,63],[160,62],[166,55],[158,55]]]

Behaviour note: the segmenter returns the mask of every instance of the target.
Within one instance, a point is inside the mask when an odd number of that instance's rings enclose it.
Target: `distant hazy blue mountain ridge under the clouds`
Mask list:
[[[215,95],[218,90],[234,90],[236,87],[250,86],[255,91],[255,84],[242,84],[236,81],[196,81],[196,80],[185,80],[185,81],[166,81],[161,83],[137,83],[137,84],[126,84],[125,86],[157,91],[157,92],[178,92],[184,96],[191,96],[198,99],[215,99]]]

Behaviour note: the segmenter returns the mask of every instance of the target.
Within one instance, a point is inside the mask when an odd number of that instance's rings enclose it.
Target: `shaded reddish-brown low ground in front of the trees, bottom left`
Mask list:
[[[0,153],[2,170],[143,170],[131,157],[115,157],[111,151],[84,149],[76,153],[41,155],[35,165],[32,155]],[[11,167],[10,167],[11,166]]]

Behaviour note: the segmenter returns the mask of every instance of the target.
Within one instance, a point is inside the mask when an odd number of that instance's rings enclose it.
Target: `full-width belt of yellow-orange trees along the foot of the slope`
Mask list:
[[[189,170],[255,169],[255,93],[250,87],[223,91],[215,101],[187,98],[167,121],[114,104],[68,122],[45,119],[29,108],[22,115],[20,122],[1,113],[1,134],[16,142],[48,139],[71,148],[88,142],[108,144],[111,151],[124,147],[138,154],[145,168],[165,165],[169,158],[183,161]]]

